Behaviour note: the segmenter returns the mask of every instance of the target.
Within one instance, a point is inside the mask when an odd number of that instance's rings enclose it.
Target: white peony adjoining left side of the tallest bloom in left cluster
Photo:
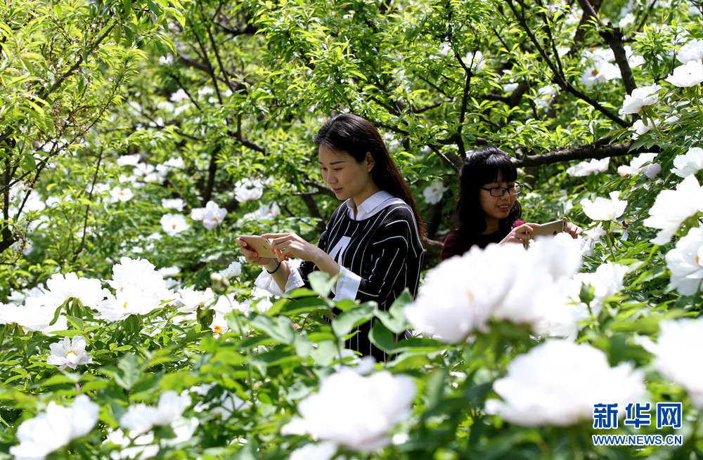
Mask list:
[[[46,305],[58,307],[68,299],[75,298],[86,307],[96,308],[108,294],[109,291],[103,289],[100,280],[79,278],[71,272],[65,275],[51,275],[51,278],[46,280],[46,289],[41,301]]]

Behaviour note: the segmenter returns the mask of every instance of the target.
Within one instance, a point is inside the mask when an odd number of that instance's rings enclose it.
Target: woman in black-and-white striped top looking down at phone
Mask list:
[[[333,294],[376,301],[387,309],[404,289],[413,296],[420,281],[423,225],[408,185],[388,154],[378,131],[353,114],[331,117],[314,138],[322,178],[338,199],[317,246],[295,233],[262,235],[276,258],[262,257],[237,239],[247,262],[264,265],[256,285],[283,294],[308,285],[308,275],[321,270],[337,278]],[[287,261],[302,259],[299,268]],[[347,348],[385,360],[368,340],[372,322],[362,324]]]

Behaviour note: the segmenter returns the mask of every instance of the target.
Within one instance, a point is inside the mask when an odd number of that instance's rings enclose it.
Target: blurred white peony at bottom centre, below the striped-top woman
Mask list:
[[[415,391],[408,376],[385,371],[361,376],[343,367],[321,381],[318,393],[298,403],[301,417],[294,417],[281,434],[307,433],[370,452],[389,445],[387,433],[410,416]]]

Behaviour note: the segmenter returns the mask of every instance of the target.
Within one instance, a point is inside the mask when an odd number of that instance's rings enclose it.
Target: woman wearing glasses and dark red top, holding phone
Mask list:
[[[472,153],[459,173],[459,199],[454,223],[458,229],[444,240],[441,259],[464,254],[472,246],[490,243],[526,244],[537,223],[520,221],[517,169],[510,155],[496,147]],[[566,220],[566,218],[564,218]],[[565,231],[576,238],[581,228],[567,222]]]

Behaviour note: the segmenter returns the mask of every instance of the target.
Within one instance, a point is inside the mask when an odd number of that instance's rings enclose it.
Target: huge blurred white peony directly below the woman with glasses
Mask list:
[[[432,268],[404,312],[413,329],[447,343],[486,331],[489,321],[530,324],[539,334],[570,334],[566,280],[581,268],[583,247],[569,235],[473,247]],[[525,268],[529,267],[529,270]]]

